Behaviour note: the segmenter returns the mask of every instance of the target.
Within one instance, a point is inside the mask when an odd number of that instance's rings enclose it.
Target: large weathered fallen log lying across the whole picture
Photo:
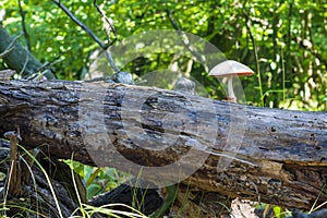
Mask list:
[[[327,201],[326,112],[120,84],[11,81],[0,82],[0,135],[19,129],[24,146],[136,175],[145,169],[158,185],[181,178],[192,190],[288,208]]]

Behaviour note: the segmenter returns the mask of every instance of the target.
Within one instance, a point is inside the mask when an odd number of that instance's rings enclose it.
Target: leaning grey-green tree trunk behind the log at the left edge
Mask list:
[[[43,64],[0,25],[0,53],[7,52],[11,48],[11,51],[0,57],[9,68],[17,73],[23,72],[22,75],[24,77],[41,69]],[[55,75],[49,70],[45,73],[45,76],[49,80],[55,78]]]

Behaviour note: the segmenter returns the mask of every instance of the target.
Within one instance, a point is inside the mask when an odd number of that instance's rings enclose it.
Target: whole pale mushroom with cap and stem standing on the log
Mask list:
[[[233,76],[245,76],[253,75],[254,72],[243,63],[240,63],[234,60],[227,60],[209,72],[209,75],[215,77],[227,77],[228,78],[228,101],[237,102],[237,97],[233,90]]]

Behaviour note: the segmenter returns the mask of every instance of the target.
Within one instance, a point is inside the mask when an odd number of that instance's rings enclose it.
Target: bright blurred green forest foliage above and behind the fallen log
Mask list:
[[[12,35],[23,29],[19,1],[0,2],[0,9],[5,11],[2,24]],[[205,38],[228,59],[257,72],[256,76],[241,78],[247,104],[313,111],[327,109],[327,3],[324,0],[97,1],[112,19],[117,38],[113,33],[107,36],[93,0],[62,3],[107,45],[152,29],[173,29],[170,13],[180,29]],[[21,5],[31,51],[36,58],[51,62],[59,57],[62,61],[55,65],[59,78],[83,77],[90,65],[89,56],[98,45],[53,2],[21,0]],[[27,39],[20,40],[28,45]],[[171,53],[150,53],[134,60],[124,70],[137,77],[167,69],[174,58]],[[5,68],[0,63],[0,68]],[[190,59],[179,57],[178,64],[185,71]],[[210,97],[223,98],[217,80],[209,77],[196,62],[191,66],[190,75]]]

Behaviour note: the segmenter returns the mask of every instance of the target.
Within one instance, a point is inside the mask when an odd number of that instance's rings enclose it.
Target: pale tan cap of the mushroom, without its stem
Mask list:
[[[253,74],[254,72],[247,65],[244,65],[243,63],[240,63],[234,60],[223,61],[217,64],[215,68],[213,68],[209,72],[209,75],[216,77],[223,77],[230,75],[245,76]]]

